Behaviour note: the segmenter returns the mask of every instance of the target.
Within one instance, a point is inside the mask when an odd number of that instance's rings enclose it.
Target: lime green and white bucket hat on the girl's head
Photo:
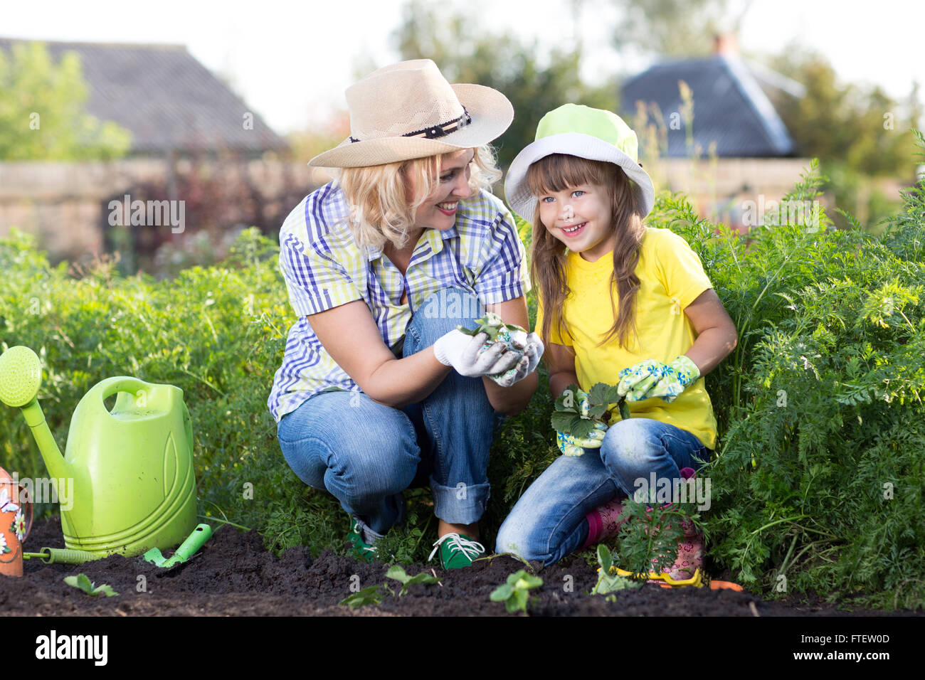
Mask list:
[[[514,158],[504,193],[514,212],[533,221],[536,196],[530,193],[527,170],[540,158],[552,154],[575,155],[594,161],[615,163],[634,183],[639,215],[647,216],[655,200],[652,179],[638,162],[639,142],[623,118],[599,108],[564,104],[549,111],[536,126],[536,142]]]

